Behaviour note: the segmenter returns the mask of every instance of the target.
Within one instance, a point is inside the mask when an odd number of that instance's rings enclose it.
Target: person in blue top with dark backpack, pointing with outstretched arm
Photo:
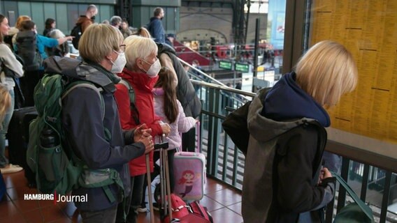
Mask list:
[[[45,47],[57,47],[72,36],[53,39],[37,34],[36,24],[27,20],[22,22],[21,31],[17,33],[15,52],[24,61],[24,77],[21,79],[22,92],[25,97],[25,106],[34,106],[33,93],[38,80],[43,77],[43,60],[48,57]]]

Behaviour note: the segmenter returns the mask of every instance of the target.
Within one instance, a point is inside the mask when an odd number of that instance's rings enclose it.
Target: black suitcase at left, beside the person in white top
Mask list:
[[[8,125],[8,159],[10,163],[20,165],[24,169],[24,175],[29,187],[36,185],[35,175],[27,165],[26,152],[29,142],[29,123],[37,117],[35,107],[23,107],[15,109],[10,125]]]

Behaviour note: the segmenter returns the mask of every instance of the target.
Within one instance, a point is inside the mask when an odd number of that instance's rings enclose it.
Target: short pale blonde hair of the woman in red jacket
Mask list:
[[[136,59],[146,60],[147,56],[154,53],[157,55],[157,45],[150,38],[142,36],[129,36],[124,40],[126,45],[125,57],[127,59],[127,69],[133,70],[136,66]]]

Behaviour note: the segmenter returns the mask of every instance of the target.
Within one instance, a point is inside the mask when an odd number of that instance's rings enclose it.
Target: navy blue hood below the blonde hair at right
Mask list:
[[[326,110],[296,84],[296,73],[284,75],[268,92],[264,100],[263,116],[274,121],[312,118],[323,127],[329,127]]]

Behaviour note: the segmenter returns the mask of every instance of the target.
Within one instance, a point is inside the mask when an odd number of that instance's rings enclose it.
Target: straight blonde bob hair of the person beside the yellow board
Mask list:
[[[331,40],[319,42],[296,63],[296,83],[320,105],[336,105],[355,89],[358,72],[352,54]]]

